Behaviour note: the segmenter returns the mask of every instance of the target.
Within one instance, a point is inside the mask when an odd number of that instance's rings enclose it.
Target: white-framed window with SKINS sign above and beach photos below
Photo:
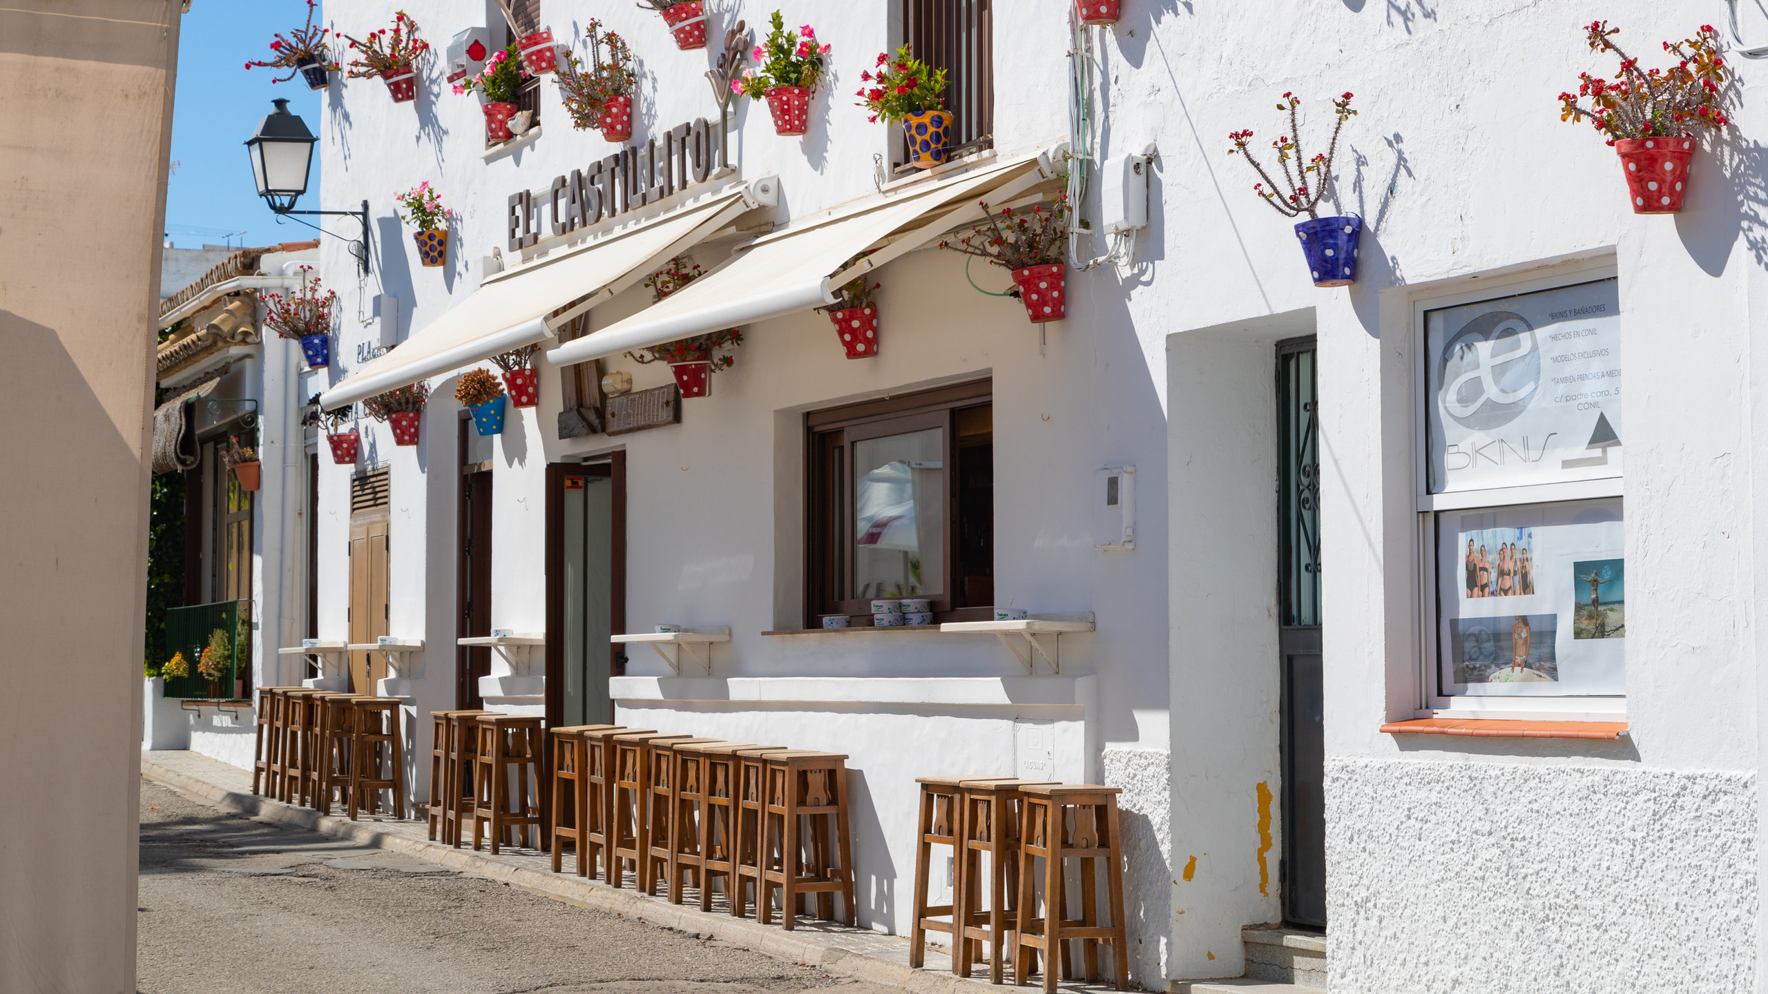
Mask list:
[[[1616,279],[1443,304],[1420,308],[1432,699],[1621,697]]]

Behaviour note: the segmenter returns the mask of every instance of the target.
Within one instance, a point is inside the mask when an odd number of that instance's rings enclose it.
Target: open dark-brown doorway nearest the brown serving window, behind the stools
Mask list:
[[[546,725],[613,722],[626,665],[626,453],[546,467]]]

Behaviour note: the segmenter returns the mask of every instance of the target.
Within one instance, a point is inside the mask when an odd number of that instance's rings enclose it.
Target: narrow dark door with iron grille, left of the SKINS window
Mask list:
[[[1278,653],[1284,920],[1326,927],[1326,736],[1321,722],[1319,377],[1314,336],[1276,347]]]

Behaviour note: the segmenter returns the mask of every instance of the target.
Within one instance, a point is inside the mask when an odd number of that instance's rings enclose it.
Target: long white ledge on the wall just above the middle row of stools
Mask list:
[[[955,677],[675,677],[617,676],[613,700],[755,700],[778,704],[919,704],[1086,707],[1091,676],[955,676]]]

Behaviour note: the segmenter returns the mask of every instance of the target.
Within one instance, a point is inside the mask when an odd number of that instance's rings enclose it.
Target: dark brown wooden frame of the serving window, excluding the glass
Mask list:
[[[921,432],[944,430],[944,481],[941,501],[946,511],[941,555],[944,555],[944,591],[930,593],[934,621],[987,621],[994,605],[964,603],[958,577],[962,522],[958,493],[958,433],[960,410],[994,403],[994,380],[972,380],[903,396],[872,400],[813,410],[804,416],[804,626],[815,628],[820,614],[847,614],[870,624],[870,598],[843,598],[850,593],[836,584],[850,580],[847,562],[849,541],[854,534],[852,460],[847,451],[852,442]],[[990,442],[992,444],[992,442]],[[836,458],[836,449],[840,456]],[[994,511],[990,509],[990,520]],[[990,524],[992,531],[992,524]],[[992,541],[990,541],[992,548]],[[990,564],[992,575],[992,564]]]

